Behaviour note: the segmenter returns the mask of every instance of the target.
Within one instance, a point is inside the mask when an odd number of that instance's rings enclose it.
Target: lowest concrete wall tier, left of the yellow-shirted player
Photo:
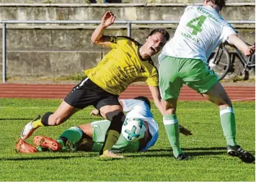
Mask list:
[[[2,55],[0,55],[2,59]],[[100,51],[41,51],[41,52],[7,52],[7,77],[47,77],[62,78],[74,76],[76,73],[84,74],[84,69],[97,65],[102,59]],[[0,63],[0,67],[2,62]],[[0,70],[2,74],[2,69]]]

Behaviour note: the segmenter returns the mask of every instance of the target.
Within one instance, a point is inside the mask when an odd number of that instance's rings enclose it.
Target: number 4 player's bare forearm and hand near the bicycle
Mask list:
[[[229,42],[234,44],[244,55],[250,56],[255,53],[255,45],[247,45],[240,37],[235,34],[229,35]]]

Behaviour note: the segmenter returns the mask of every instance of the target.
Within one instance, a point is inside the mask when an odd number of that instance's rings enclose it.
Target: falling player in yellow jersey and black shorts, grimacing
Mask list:
[[[38,127],[61,124],[75,112],[92,105],[100,110],[102,117],[111,122],[100,156],[123,158],[110,151],[120,136],[125,120],[118,101],[119,94],[131,83],[144,81],[149,85],[154,103],[162,112],[158,73],[151,56],[159,53],[169,40],[168,32],[165,29],[154,29],[146,37],[144,45],[141,45],[130,37],[103,35],[105,29],[114,22],[114,14],[105,12],[91,38],[92,42],[109,46],[112,50],[96,67],[84,71],[86,77],[66,96],[56,112],[47,112],[43,117],[39,116],[25,125],[21,133],[23,140],[30,137]]]

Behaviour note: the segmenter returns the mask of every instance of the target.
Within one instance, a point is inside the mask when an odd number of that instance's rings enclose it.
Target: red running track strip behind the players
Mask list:
[[[71,84],[0,84],[0,98],[35,98],[35,99],[63,99],[69,94]],[[232,101],[255,101],[254,86],[226,86],[224,87]],[[134,96],[145,95],[152,99],[149,87],[145,85],[129,86],[120,94],[120,99],[131,99]],[[205,101],[193,89],[183,86],[180,101]]]

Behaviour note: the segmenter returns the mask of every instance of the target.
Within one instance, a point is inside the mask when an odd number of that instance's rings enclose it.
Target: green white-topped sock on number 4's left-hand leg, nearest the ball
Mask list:
[[[164,116],[164,128],[167,132],[169,143],[172,146],[173,155],[175,155],[176,158],[177,155],[182,153],[180,148],[180,128],[176,114]]]

